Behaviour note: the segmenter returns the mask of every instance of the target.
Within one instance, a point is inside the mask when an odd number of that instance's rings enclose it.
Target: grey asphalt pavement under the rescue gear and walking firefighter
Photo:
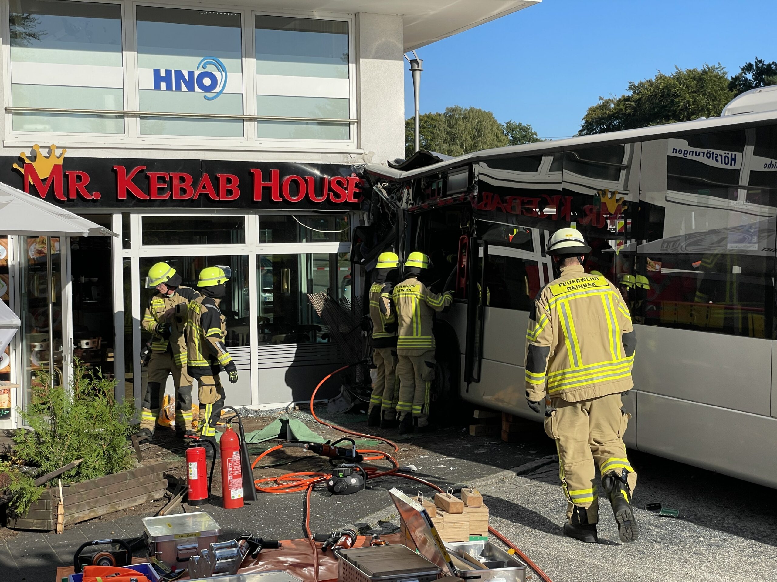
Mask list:
[[[309,416],[297,414],[310,421]],[[267,413],[256,423],[267,424],[272,418],[273,413]],[[340,421],[345,420],[349,428],[367,430],[363,417],[340,417]],[[310,425],[329,438],[320,426]],[[554,582],[777,580],[777,508],[770,503],[774,490],[767,487],[629,452],[639,473],[635,492],[639,541],[618,542],[609,504],[601,500],[601,543],[584,544],[563,535],[566,501],[553,457],[555,446],[545,437],[541,424],[531,427],[516,444],[494,437],[471,437],[455,428],[401,439],[395,431],[387,431],[385,436],[398,442],[400,464],[415,466],[416,475],[440,487],[475,483],[490,508],[491,525],[534,559]],[[163,453],[171,472],[183,469],[180,452]],[[284,461],[283,456],[274,459]],[[265,469],[261,474],[323,469],[304,463],[305,459],[294,460],[290,466]],[[260,476],[260,472],[255,474]],[[317,491],[311,504],[313,531],[329,532],[350,524],[364,533],[392,531],[398,518],[386,493],[391,487],[409,493],[425,490],[392,478],[368,482],[368,490],[348,497]],[[244,532],[266,539],[301,536],[301,494],[260,495],[260,501],[250,507],[233,511],[218,507],[220,501],[217,493],[213,504],[204,509],[224,525],[224,539]],[[646,504],[657,502],[677,509],[678,518],[659,517],[646,510]],[[62,535],[0,528],[0,580],[54,580],[56,566],[69,563],[80,543],[138,535],[141,518],[160,507],[162,501],[106,515],[67,528]],[[528,580],[536,582],[538,578]]]

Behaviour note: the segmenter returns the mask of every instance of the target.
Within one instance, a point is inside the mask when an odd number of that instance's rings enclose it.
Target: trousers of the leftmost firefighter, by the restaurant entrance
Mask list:
[[[172,374],[172,383],[176,388],[176,428],[192,428],[192,379],[186,373],[186,366],[179,367],[170,352],[153,352],[148,360],[148,384],[143,396],[141,428],[154,431],[165,396],[167,377]],[[181,429],[178,429],[181,430]]]

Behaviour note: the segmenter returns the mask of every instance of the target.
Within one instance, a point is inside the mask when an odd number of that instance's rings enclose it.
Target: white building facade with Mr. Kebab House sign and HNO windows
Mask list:
[[[227,404],[309,397],[342,356],[306,293],[359,289],[360,168],[403,155],[404,52],[533,3],[0,0],[0,181],[118,235],[0,233],[0,297],[23,320],[0,428],[50,364],[140,399],[161,260],[185,285],[232,267]]]

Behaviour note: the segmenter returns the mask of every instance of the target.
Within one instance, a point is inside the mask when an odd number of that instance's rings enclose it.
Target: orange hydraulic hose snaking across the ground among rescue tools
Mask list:
[[[334,372],[331,372],[327,374],[321,382],[319,382],[318,386],[315,386],[315,390],[313,390],[313,393],[310,397],[310,414],[314,418],[316,422],[319,424],[323,424],[326,427],[333,428],[336,431],[343,432],[346,435],[352,435],[357,436],[360,438],[375,438],[381,442],[385,442],[387,445],[390,445],[393,447],[394,452],[399,452],[399,445],[397,445],[395,442],[389,441],[388,438],[383,438],[377,435],[364,435],[361,432],[357,431],[349,431],[347,428],[342,428],[340,426],[337,426],[336,424],[329,424],[328,422],[322,421],[318,416],[316,416],[315,411],[313,411],[313,401],[315,400],[315,394],[319,391],[319,388],[323,386],[324,383],[326,383],[326,380],[334,376],[338,372],[342,372],[344,369],[350,368],[353,364],[349,365],[343,365],[342,367],[336,369]],[[277,451],[279,449],[283,449],[284,445],[276,445],[274,447],[271,447],[270,449],[267,449],[267,451],[263,452],[260,456],[256,457],[254,459],[253,463],[251,464],[251,468],[253,469],[256,466],[256,463],[259,462],[260,459],[262,459],[264,456],[267,456],[270,454],[270,452]],[[364,471],[368,474],[369,479],[375,479],[375,477],[381,477],[386,475],[394,475],[398,477],[402,477],[403,479],[409,479],[416,481],[417,483],[422,483],[423,485],[426,485],[427,487],[430,487],[431,489],[437,490],[440,493],[444,493],[444,491],[437,487],[434,483],[431,483],[430,481],[421,479],[420,477],[416,477],[414,475],[406,475],[405,473],[399,473],[399,462],[397,460],[389,455],[389,453],[384,451],[379,451],[377,449],[358,449],[357,452],[361,455],[366,454],[372,454],[372,456],[365,456],[365,461],[375,461],[380,459],[385,459],[392,463],[392,468],[387,470],[381,470],[378,467],[364,467]],[[316,483],[322,483],[329,479],[331,474],[329,473],[312,473],[312,472],[300,472],[300,473],[287,473],[285,475],[281,475],[279,477],[271,477],[267,479],[257,479],[254,481],[256,485],[256,490],[260,491],[262,493],[270,493],[270,494],[286,494],[286,493],[297,493],[299,491],[305,491],[305,535],[308,536],[308,542],[310,542],[310,546],[313,552],[313,582],[319,582],[319,553],[318,549],[315,546],[315,542],[313,541],[313,536],[310,532],[310,494],[313,491],[313,487],[315,487]],[[260,483],[276,483],[273,486],[270,487],[260,487]],[[552,582],[552,580],[548,577],[548,575],[543,572],[537,564],[534,563],[525,553],[521,551],[521,549],[518,549],[517,546],[514,545],[513,542],[510,542],[509,539],[505,535],[503,535],[501,532],[497,531],[497,529],[492,528],[489,526],[488,528],[490,533],[493,533],[493,535],[497,536],[497,539],[500,540],[505,546],[509,547],[510,549],[513,549],[514,552],[522,559],[524,562],[532,569],[534,570],[537,575],[543,580],[543,582]]]

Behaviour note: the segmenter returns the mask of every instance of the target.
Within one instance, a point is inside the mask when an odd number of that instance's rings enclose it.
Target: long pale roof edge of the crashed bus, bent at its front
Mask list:
[[[693,121],[639,127],[636,130],[596,133],[594,135],[568,137],[564,140],[539,141],[536,144],[493,147],[490,150],[473,151],[471,154],[465,154],[458,158],[437,162],[437,164],[427,165],[423,168],[416,168],[414,170],[402,171],[395,168],[389,168],[382,164],[367,164],[364,168],[371,174],[402,181],[419,178],[420,176],[427,174],[434,174],[437,171],[447,168],[456,168],[457,166],[464,164],[471,164],[472,162],[493,158],[506,158],[513,155],[570,150],[575,147],[586,145],[625,144],[645,139],[655,140],[660,139],[661,137],[674,137],[678,134],[702,133],[709,130],[733,130],[737,129],[739,126],[766,125],[767,123],[774,121],[777,121],[777,110],[761,113],[740,113],[739,115],[728,115],[725,117],[700,118]]]

